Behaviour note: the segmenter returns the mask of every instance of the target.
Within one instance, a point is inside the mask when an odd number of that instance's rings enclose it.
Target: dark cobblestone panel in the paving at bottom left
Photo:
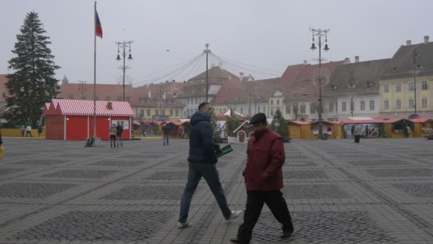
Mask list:
[[[17,233],[17,240],[122,240],[151,238],[167,211],[71,211]]]

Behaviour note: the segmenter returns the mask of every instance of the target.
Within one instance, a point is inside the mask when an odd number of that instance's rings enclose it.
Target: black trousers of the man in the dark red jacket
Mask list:
[[[287,208],[286,200],[280,190],[260,191],[247,190],[246,210],[244,213],[244,223],[238,230],[237,239],[241,244],[247,244],[251,241],[254,226],[259,220],[264,203],[268,205],[273,216],[283,225],[283,231],[293,230],[293,223],[290,212]]]

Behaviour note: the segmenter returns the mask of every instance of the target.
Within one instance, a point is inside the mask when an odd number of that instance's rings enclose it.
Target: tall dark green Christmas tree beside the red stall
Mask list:
[[[44,34],[43,24],[36,12],[27,14],[21,34],[16,35],[14,58],[9,60],[12,72],[7,76],[6,120],[11,125],[36,123],[41,118],[43,106],[58,94],[58,80],[54,78],[56,66]]]

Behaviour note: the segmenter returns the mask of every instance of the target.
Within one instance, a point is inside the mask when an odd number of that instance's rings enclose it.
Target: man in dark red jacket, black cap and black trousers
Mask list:
[[[264,113],[257,113],[251,118],[254,134],[248,141],[246,148],[247,161],[244,171],[246,185],[246,210],[244,223],[238,230],[236,239],[232,243],[250,243],[254,225],[264,203],[283,225],[281,238],[289,238],[293,233],[293,223],[286,200],[283,198],[283,167],[286,153],[283,138],[275,131],[268,130],[268,123]]]

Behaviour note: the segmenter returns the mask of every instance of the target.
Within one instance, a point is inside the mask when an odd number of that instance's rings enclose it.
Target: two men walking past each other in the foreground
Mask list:
[[[220,147],[212,139],[211,115],[211,104],[201,103],[199,111],[194,113],[190,121],[188,180],[180,203],[178,228],[193,225],[188,221],[189,206],[202,177],[214,194],[226,221],[234,220],[242,213],[241,210],[229,208],[219,181],[215,164],[218,162],[216,155]],[[236,237],[230,240],[231,243],[250,243],[254,226],[259,220],[265,203],[282,225],[281,238],[289,238],[294,231],[286,200],[281,193],[283,188],[281,168],[286,156],[283,138],[278,133],[268,130],[264,113],[254,115],[250,124],[254,128],[254,133],[248,142],[246,150],[248,157],[242,173],[247,195],[244,223],[240,225]]]

